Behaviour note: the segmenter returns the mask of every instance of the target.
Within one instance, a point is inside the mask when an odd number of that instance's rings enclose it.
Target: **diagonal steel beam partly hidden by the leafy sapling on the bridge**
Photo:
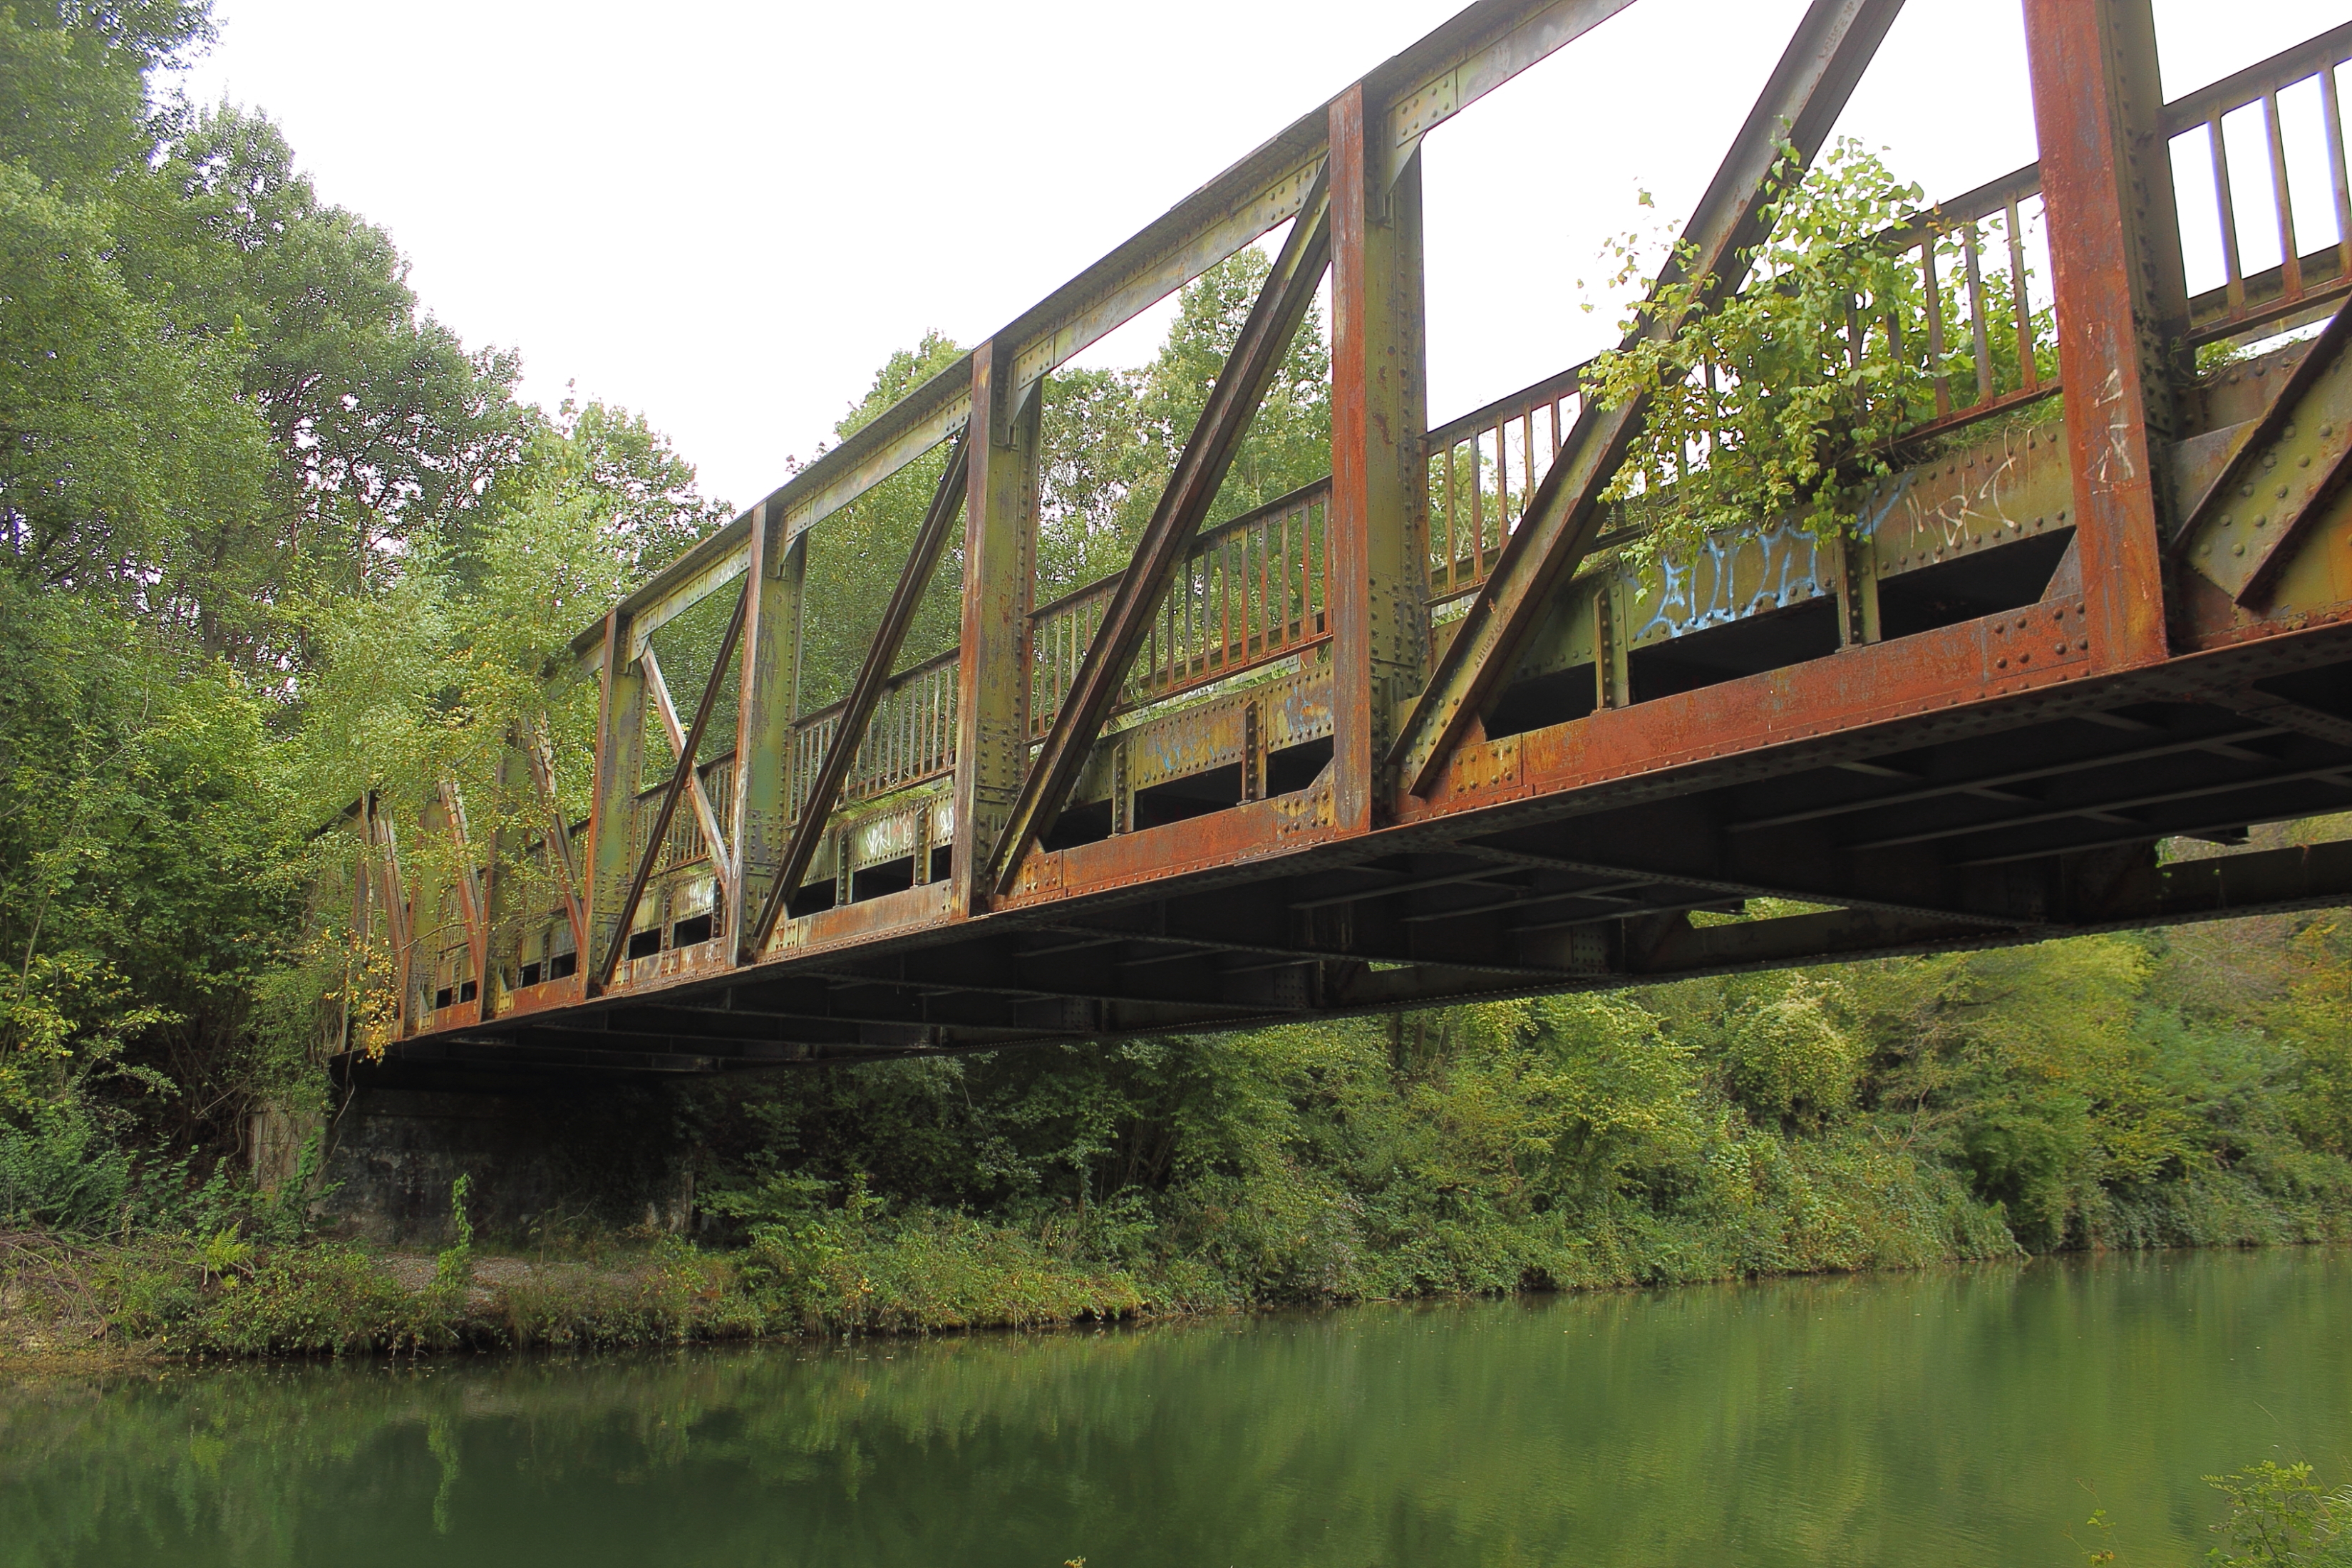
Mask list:
[[[1762,202],[1783,141],[1797,148],[1802,162],[1813,160],[1900,9],[1903,0],[1813,0],[1682,230],[1689,268],[1668,261],[1661,289],[1686,277],[1715,280],[1712,289],[1738,287],[1745,254],[1764,237]],[[1665,339],[1677,327],[1679,320],[1642,315],[1628,343]],[[1578,414],[1397,738],[1390,762],[1411,795],[1437,788],[1449,750],[1508,682],[1517,649],[1543,618],[1552,590],[1592,550],[1602,489],[1642,433],[1642,416],[1639,400],[1623,409],[1585,404]]]

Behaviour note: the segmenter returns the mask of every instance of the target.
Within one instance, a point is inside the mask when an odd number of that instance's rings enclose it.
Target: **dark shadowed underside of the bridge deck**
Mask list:
[[[2312,628],[1247,867],[684,976],[402,1041],[386,1067],[724,1072],[927,1056],[2331,905],[2352,898],[2340,846],[2154,870],[2145,846],[2230,844],[2249,823],[2352,811],[2352,717],[2331,712],[2336,693],[2352,693],[2352,628]]]

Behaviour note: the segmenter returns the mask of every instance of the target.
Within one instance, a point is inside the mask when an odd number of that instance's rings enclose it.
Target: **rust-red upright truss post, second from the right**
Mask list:
[[[1331,103],[1331,780],[1343,832],[1376,825],[1397,705],[1428,679],[1428,374],[1421,155],[1388,183],[1385,103]]]

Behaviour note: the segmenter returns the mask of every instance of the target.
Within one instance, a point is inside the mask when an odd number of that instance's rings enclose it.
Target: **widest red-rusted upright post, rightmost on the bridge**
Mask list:
[[[2091,668],[2164,658],[2187,292],[2150,0],[2025,0]]]

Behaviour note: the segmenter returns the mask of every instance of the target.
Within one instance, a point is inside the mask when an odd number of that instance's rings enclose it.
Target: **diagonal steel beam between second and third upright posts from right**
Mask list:
[[[1209,404],[1202,409],[1200,423],[1192,425],[1192,435],[1185,437],[1183,451],[1176,456],[1176,468],[1169,473],[1167,489],[1160,491],[1152,520],[1145,524],[1143,538],[1136,543],[1127,571],[1120,576],[1120,588],[1103,611],[1103,623],[1094,632],[1094,642],[1087,644],[1087,658],[1080,663],[1077,679],[1070,682],[1070,691],[1054,715],[1054,729],[1047,731],[1037,759],[1021,780],[1021,792],[1007,813],[1004,837],[997,842],[997,853],[990,863],[988,891],[993,896],[1002,898],[1018,886],[1023,851],[1051,832],[1063,802],[1070,797],[1070,785],[1077,783],[1080,769],[1087,766],[1087,755],[1103,731],[1103,719],[1110,717],[1110,708],[1120,701],[1127,665],[1134,663],[1136,649],[1143,646],[1143,635],[1150,630],[1152,609],[1183,562],[1185,548],[1192,543],[1192,531],[1209,515],[1216,489],[1232,465],[1232,451],[1240,447],[1251,416],[1258,411],[1258,402],[1265,397],[1265,388],[1282,367],[1282,355],[1289,353],[1291,339],[1298,336],[1298,324],[1305,320],[1308,306],[1315,303],[1315,289],[1322,282],[1329,252],[1329,179],[1317,176],[1308,205],[1282,242],[1282,254],[1275,259],[1258,301],[1249,308],[1242,336],[1235,341],[1232,353],[1225,355],[1225,367],[1216,376],[1216,388],[1209,393]]]

